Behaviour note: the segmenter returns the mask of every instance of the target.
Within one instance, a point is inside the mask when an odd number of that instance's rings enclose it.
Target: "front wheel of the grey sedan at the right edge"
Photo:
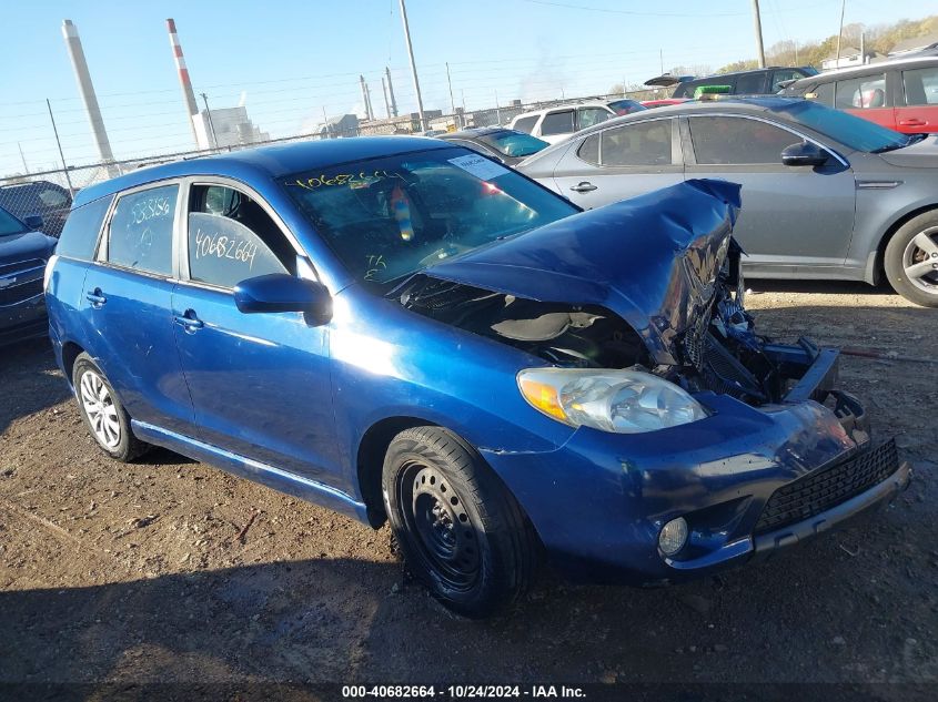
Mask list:
[[[919,235],[927,236],[938,247],[938,211],[912,217],[892,235],[882,258],[886,277],[892,288],[909,302],[922,307],[938,307],[938,251],[914,245],[912,240]],[[932,269],[924,278],[909,279],[909,264],[927,266],[929,263]]]

